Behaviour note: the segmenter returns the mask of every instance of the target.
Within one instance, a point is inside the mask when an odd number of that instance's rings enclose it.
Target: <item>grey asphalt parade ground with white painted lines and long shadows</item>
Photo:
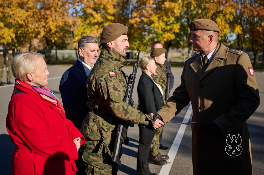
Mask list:
[[[48,66],[50,75],[48,76],[48,85],[54,94],[60,99],[59,82],[62,74],[68,67]],[[132,73],[132,67],[122,68],[126,74]],[[264,70],[254,70],[257,84],[260,92],[260,106],[254,114],[247,120],[252,149],[253,174],[264,174]],[[180,75],[182,68],[172,68],[174,75],[174,84],[172,91],[180,85]],[[141,75],[138,69],[136,75],[136,84],[132,98],[135,101],[135,107],[138,105],[137,83]],[[6,71],[4,72],[3,83],[6,82]],[[15,82],[12,77],[11,82]],[[10,101],[14,85],[0,86],[0,174],[11,175],[11,159],[15,146],[11,143],[6,130],[6,115],[8,112],[8,103]],[[172,92],[171,92],[172,94]],[[223,106],[224,107],[224,104]],[[174,117],[169,123],[164,125],[162,144],[169,146],[168,150],[160,150],[164,155],[168,155],[167,164],[158,166],[149,164],[150,171],[160,175],[192,174],[192,153],[191,153],[191,126],[181,125],[175,122],[191,121],[191,105],[186,106],[180,114]],[[122,146],[123,155],[121,157],[122,165],[119,167],[118,175],[136,173],[136,156],[139,140],[139,129],[135,125],[128,129],[129,144]],[[224,168],[224,167],[223,167]]]

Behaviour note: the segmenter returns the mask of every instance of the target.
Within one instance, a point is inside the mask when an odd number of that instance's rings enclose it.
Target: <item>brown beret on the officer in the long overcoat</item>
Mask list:
[[[218,25],[210,19],[196,19],[190,22],[189,27],[192,31],[194,30],[209,30],[213,32],[220,32]]]

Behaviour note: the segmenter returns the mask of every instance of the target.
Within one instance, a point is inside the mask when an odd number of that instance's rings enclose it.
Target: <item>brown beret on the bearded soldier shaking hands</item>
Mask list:
[[[114,41],[116,38],[121,35],[126,35],[128,33],[128,26],[124,26],[119,23],[108,24],[102,31],[100,42],[108,43]]]

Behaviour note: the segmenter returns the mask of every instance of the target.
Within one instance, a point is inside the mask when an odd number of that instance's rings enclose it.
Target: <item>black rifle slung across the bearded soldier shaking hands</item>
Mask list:
[[[138,70],[138,59],[139,59],[139,52],[138,52],[136,63],[134,63],[134,66],[133,66],[132,74],[129,75],[127,88],[126,88],[126,92],[124,96],[124,101],[127,102],[131,106],[134,105],[134,101],[132,99],[132,93],[133,93],[133,88],[134,88],[134,84],[136,80],[136,71]],[[119,166],[121,166],[121,160],[119,158],[119,153],[121,150],[122,142],[124,142],[125,145],[128,145],[128,142],[129,142],[129,139],[126,135],[129,126],[134,127],[134,123],[121,120],[116,129],[116,138],[115,138],[112,162],[117,163]]]

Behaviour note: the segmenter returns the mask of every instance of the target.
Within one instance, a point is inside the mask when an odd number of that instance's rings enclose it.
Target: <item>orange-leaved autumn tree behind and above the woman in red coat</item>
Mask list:
[[[57,44],[64,43],[65,30],[70,30],[71,18],[68,13],[67,0],[39,0],[36,31],[38,38],[46,41],[47,59],[50,63],[50,53]]]

